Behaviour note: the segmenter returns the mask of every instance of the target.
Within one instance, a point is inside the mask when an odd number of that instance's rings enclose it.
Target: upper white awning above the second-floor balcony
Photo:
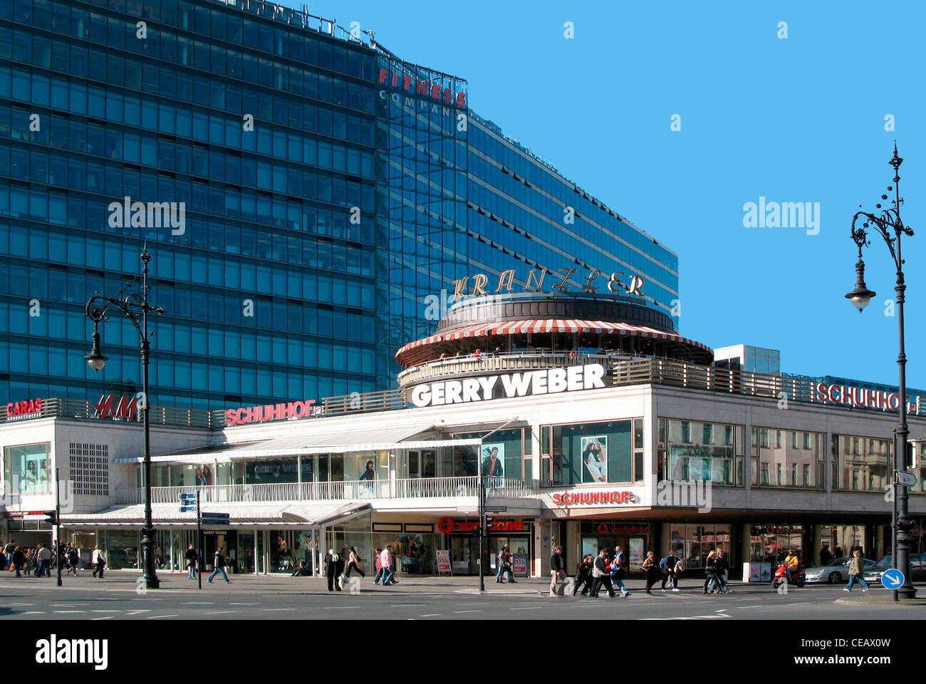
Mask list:
[[[410,440],[433,429],[433,424],[404,427],[341,429],[336,432],[307,432],[295,437],[278,437],[249,442],[230,442],[196,449],[172,451],[151,458],[152,462],[202,463],[235,459],[273,458],[347,451],[394,449],[429,449],[464,444],[479,444],[478,439]],[[117,463],[142,462],[141,456],[114,459]]]

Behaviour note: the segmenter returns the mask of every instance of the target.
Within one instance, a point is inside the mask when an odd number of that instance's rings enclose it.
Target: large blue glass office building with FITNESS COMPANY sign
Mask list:
[[[598,269],[607,292],[622,272],[671,313],[676,255],[467,96],[254,0],[0,3],[0,403],[140,388],[128,320],[87,367],[84,304],[138,272],[143,240],[155,405],[394,386],[395,350],[475,273],[520,289],[575,268],[577,290]]]

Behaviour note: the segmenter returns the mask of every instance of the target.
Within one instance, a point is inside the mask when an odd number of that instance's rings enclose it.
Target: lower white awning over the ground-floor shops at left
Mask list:
[[[348,518],[372,510],[369,502],[363,503],[210,503],[204,501],[202,509],[208,513],[228,513],[231,526],[236,525],[303,525],[309,527],[332,526]],[[142,525],[144,505],[113,506],[99,513],[76,513],[62,516],[64,526],[126,526]],[[196,516],[180,513],[173,503],[156,503],[151,507],[151,519],[158,526],[195,526]]]

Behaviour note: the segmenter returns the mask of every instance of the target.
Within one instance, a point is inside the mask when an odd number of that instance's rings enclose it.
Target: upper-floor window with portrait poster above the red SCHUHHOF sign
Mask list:
[[[632,482],[632,425],[629,420],[544,425],[544,485]]]

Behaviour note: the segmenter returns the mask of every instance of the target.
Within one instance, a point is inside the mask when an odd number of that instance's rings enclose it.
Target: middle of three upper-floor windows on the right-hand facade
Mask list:
[[[753,450],[758,452],[759,487],[823,487],[823,443],[815,432],[754,427]]]

